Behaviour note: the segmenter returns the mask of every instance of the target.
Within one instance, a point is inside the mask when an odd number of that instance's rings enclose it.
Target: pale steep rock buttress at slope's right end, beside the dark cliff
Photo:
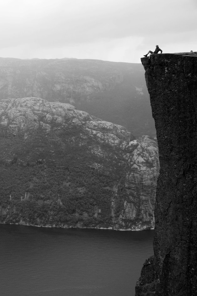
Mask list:
[[[154,196],[159,174],[157,144],[148,136],[143,136],[129,145],[135,147],[129,157],[129,170],[125,178],[129,199],[124,201],[124,210],[119,219],[124,223],[123,219],[138,218],[139,226],[146,225],[152,219],[151,226],[154,228]],[[143,229],[143,226],[139,228]]]

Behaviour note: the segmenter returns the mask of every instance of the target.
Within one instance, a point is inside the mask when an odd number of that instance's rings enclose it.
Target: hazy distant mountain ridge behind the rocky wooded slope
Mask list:
[[[0,58],[0,99],[40,97],[155,137],[141,64],[102,60]]]

